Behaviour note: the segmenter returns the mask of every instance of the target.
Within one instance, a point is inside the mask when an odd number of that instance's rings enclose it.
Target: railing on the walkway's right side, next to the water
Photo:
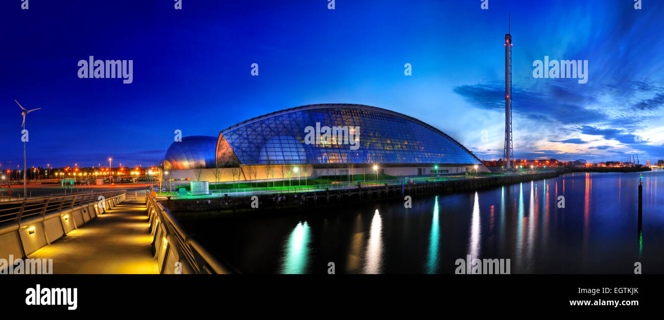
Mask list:
[[[230,264],[222,261],[210,250],[201,244],[197,235],[187,233],[179,221],[173,217],[157,199],[146,191],[148,209],[153,210],[157,219],[163,223],[166,229],[165,237],[170,238],[169,246],[177,245],[177,252],[181,253],[189,266],[197,274],[236,274],[239,273]],[[158,225],[156,227],[159,227]],[[155,237],[157,232],[155,231]],[[175,243],[173,243],[175,239]]]

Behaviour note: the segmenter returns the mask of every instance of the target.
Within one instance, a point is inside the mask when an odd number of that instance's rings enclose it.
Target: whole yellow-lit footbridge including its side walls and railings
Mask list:
[[[238,272],[145,190],[0,203],[0,273],[23,274],[21,259],[25,274]]]

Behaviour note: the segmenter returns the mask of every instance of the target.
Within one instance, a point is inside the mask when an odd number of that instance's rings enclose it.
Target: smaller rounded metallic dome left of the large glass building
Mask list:
[[[198,169],[214,168],[214,136],[183,136],[182,141],[173,142],[166,150],[164,168]]]

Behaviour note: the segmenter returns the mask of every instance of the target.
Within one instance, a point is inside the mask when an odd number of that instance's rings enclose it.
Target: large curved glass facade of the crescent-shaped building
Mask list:
[[[325,127],[332,134],[326,136]],[[349,135],[355,129],[359,134]],[[219,134],[216,160],[220,166],[481,164],[459,142],[418,119],[352,104],[305,105],[238,123]]]

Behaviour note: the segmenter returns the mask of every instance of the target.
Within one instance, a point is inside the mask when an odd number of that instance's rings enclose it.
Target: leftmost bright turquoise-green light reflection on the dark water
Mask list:
[[[309,225],[297,223],[286,242],[282,274],[303,274],[309,264]]]

